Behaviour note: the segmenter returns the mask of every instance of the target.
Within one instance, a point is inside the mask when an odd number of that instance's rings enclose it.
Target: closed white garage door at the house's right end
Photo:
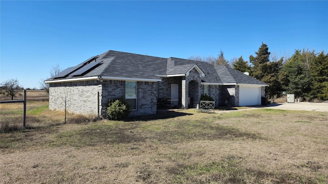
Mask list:
[[[239,106],[261,105],[261,87],[239,86]]]

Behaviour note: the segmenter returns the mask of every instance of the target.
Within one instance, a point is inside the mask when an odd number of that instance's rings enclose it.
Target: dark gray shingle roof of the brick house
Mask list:
[[[91,67],[90,70],[81,75],[71,75],[73,72],[79,70],[79,68],[85,67],[86,64],[90,62],[100,62],[100,65],[98,64],[94,67]],[[201,78],[202,82],[216,84],[243,83],[266,85],[264,82],[244,75],[231,67],[223,65],[213,66],[207,62],[194,61],[189,59],[180,59],[174,57],[160,58],[111,50],[81,62],[73,68],[74,71],[63,71],[61,74],[57,75],[59,77],[55,76],[53,78],[47,79],[46,81],[78,79],[97,76],[158,80],[161,79],[158,76],[186,74],[195,64],[205,74],[205,76]],[[79,74],[79,72],[76,73]]]

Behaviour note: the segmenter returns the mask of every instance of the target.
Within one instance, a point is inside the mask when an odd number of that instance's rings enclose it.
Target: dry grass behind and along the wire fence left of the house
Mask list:
[[[23,94],[23,91],[19,92]],[[2,95],[2,98],[4,96]],[[10,100],[6,97],[5,100]],[[8,99],[9,98],[9,99]],[[19,97],[23,99],[23,97]],[[15,100],[19,99],[15,98]],[[49,110],[49,94],[45,90],[27,90],[26,127],[39,128],[65,123],[65,112]],[[66,113],[67,123],[88,123],[96,121],[94,116]],[[0,132],[23,129],[23,103],[0,104]]]

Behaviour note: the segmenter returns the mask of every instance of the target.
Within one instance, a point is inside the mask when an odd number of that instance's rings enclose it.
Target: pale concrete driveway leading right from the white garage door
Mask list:
[[[270,104],[268,106],[259,106],[259,107],[260,108],[283,109],[283,110],[308,110],[308,111],[328,112],[328,103],[316,103],[316,102]],[[257,107],[255,107],[255,108],[257,108]]]

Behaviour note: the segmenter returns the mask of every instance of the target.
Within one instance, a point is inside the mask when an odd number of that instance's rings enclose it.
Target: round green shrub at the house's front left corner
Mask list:
[[[107,107],[107,116],[110,120],[122,120],[130,114],[130,105],[124,100],[110,99]]]

